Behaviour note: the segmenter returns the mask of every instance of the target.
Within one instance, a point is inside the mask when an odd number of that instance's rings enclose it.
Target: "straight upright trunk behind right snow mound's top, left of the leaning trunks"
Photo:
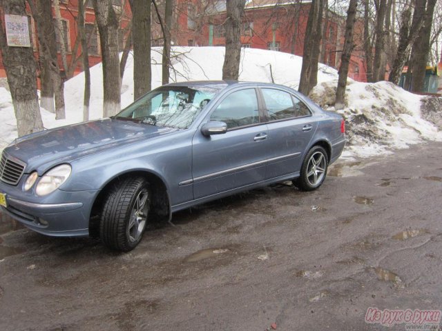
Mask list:
[[[382,68],[383,52],[385,48],[385,12],[387,10],[387,0],[379,0],[376,6],[376,42],[374,43],[374,61],[373,61],[373,82],[383,80],[382,74],[385,74],[385,68]]]

